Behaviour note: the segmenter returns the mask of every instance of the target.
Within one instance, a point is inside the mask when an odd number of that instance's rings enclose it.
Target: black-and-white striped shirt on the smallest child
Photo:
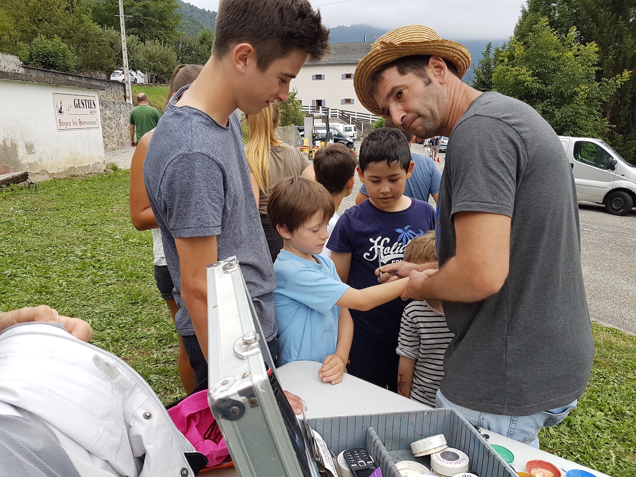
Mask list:
[[[404,308],[396,352],[415,359],[411,399],[435,407],[444,377],[444,353],[453,336],[444,315],[427,301],[411,301]]]

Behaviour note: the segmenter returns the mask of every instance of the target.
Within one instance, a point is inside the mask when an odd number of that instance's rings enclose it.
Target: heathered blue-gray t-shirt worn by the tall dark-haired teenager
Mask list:
[[[174,282],[179,334],[191,336],[195,331],[181,300],[174,238],[216,235],[219,260],[237,256],[265,339],[273,340],[277,333],[272,295],[276,277],[252,192],[237,114],[233,113],[228,127],[223,127],[202,111],[177,107],[171,101],[148,146],[144,183]]]

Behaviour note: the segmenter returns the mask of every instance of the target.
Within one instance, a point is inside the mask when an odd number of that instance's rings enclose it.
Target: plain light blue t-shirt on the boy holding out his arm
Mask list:
[[[349,285],[340,281],[329,257],[315,258],[320,263],[281,250],[274,262],[278,366],[301,359],[322,363],[336,352],[340,314],[336,301]]]

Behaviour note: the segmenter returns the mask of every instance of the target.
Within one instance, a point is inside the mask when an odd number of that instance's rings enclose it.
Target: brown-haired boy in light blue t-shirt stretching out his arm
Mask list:
[[[394,300],[408,279],[362,290],[343,284],[333,261],[321,254],[333,212],[333,198],[326,188],[305,177],[288,177],[276,184],[267,206],[267,218],[284,242],[274,262],[277,364],[319,361],[322,381],[338,384],[353,338],[349,308],[370,310]]]

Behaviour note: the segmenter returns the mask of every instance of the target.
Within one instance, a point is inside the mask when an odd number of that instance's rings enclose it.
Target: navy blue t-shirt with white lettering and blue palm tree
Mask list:
[[[399,212],[386,212],[365,200],[347,209],[336,223],[327,247],[351,253],[349,285],[363,289],[378,284],[375,269],[401,261],[406,244],[435,227],[435,211],[427,202],[411,199]],[[378,340],[397,340],[399,324],[408,301],[389,301],[367,312],[350,310],[356,333]]]

